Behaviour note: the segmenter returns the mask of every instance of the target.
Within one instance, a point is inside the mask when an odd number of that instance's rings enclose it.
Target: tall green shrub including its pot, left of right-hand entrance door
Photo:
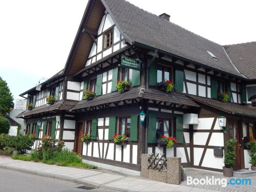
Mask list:
[[[233,176],[233,164],[236,162],[236,152],[235,146],[237,141],[234,139],[229,139],[226,142],[226,150],[224,153],[224,164],[223,167],[223,176],[232,177]]]

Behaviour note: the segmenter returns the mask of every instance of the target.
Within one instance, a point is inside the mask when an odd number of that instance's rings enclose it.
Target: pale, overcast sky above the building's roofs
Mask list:
[[[129,0],[221,45],[256,41],[256,1]],[[0,1],[0,76],[15,98],[65,67],[88,0]],[[41,81],[42,82],[42,81]]]

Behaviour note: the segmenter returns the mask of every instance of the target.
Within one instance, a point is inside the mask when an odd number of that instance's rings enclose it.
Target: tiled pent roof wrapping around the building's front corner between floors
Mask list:
[[[182,103],[188,106],[200,107],[200,105],[198,105],[197,103],[195,103],[193,100],[191,100],[185,94],[182,94],[182,93],[175,93],[175,92],[164,93],[164,92],[156,92],[151,90],[146,90],[144,94],[140,96],[139,96],[139,93],[140,93],[140,89],[134,89],[128,92],[124,92],[122,94],[115,92],[115,93],[110,93],[107,96],[102,95],[102,96],[96,97],[93,100],[82,100],[78,104],[76,104],[72,108],[72,110],[90,108],[92,106],[97,106],[101,104],[108,104],[108,103],[120,102],[124,100],[137,99],[137,98],[165,101],[165,102],[176,103],[176,104]]]

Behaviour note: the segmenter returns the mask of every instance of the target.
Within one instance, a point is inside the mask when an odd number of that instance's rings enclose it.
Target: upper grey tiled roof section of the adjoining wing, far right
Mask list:
[[[256,78],[256,41],[224,46],[238,70],[249,79]]]

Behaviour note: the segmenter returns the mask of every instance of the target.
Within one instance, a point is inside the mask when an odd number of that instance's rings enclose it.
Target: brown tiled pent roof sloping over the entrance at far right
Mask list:
[[[221,110],[226,113],[230,113],[233,115],[241,115],[247,117],[256,117],[256,109],[252,108],[250,105],[241,105],[238,103],[232,102],[222,102],[216,99],[203,98],[199,96],[188,95],[192,100],[208,105],[211,108],[215,108],[217,110]]]

